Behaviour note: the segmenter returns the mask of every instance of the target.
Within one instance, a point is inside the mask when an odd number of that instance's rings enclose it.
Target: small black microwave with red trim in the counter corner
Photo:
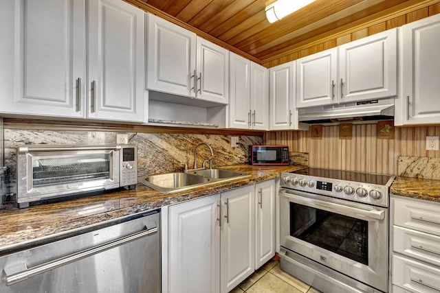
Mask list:
[[[289,165],[289,146],[250,145],[251,165]]]

